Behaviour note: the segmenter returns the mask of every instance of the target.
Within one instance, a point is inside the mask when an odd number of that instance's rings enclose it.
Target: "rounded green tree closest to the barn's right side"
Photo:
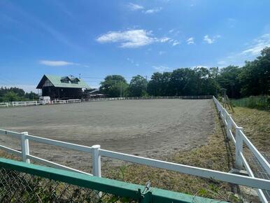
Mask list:
[[[107,94],[108,97],[126,97],[127,89],[127,81],[119,75],[106,76],[100,86],[101,92]]]

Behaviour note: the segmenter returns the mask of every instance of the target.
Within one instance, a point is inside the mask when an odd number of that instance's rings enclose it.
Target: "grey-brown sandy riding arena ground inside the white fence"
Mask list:
[[[0,109],[0,128],[166,160],[175,151],[205,144],[213,132],[211,99],[85,102]],[[0,136],[0,144],[20,149]],[[84,169],[90,155],[30,141],[30,153]]]

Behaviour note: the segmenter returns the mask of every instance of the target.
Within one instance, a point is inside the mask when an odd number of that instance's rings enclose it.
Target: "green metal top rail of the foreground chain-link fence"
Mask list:
[[[104,193],[118,195],[120,197],[129,197],[138,202],[220,202],[218,200],[211,200],[204,197],[194,197],[183,193],[176,193],[169,190],[162,190],[158,188],[150,188],[146,193],[142,191],[145,186],[136,185],[133,183],[125,183],[112,179],[99,178],[97,176],[89,176],[87,174],[80,174],[76,172],[69,172],[62,169],[55,169],[51,167],[43,167],[40,165],[27,164],[15,160],[0,158],[0,167],[5,169],[12,169],[17,172],[23,172],[34,176],[40,176],[46,179],[55,181],[62,181],[71,185],[80,186],[83,188],[90,188]]]

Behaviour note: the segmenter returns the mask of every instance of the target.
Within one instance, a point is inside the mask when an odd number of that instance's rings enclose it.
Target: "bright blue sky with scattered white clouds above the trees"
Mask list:
[[[0,86],[243,65],[270,46],[270,1],[0,0]]]

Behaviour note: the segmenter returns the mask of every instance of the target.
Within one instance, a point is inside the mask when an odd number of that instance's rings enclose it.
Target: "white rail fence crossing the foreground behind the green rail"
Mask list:
[[[106,151],[104,149],[101,149],[100,146],[81,146],[78,144],[71,144],[71,143],[66,143],[64,141],[57,141],[53,139],[46,139],[42,137],[36,137],[27,134],[27,132],[23,133],[15,133],[11,132],[8,130],[0,130],[0,134],[6,134],[10,135],[12,137],[15,137],[17,139],[22,140],[22,152],[15,151],[15,150],[10,150],[10,148],[6,148],[5,146],[0,146],[1,149],[6,150],[10,153],[13,153],[15,155],[22,155],[22,159],[24,162],[27,162],[28,160],[34,160],[36,162],[40,162],[41,164],[48,165],[50,167],[56,167],[56,168],[61,168],[61,169],[67,169],[70,171],[74,172],[81,172],[76,169],[72,169],[70,167],[66,167],[64,165],[59,165],[55,162],[50,162],[48,160],[44,160],[38,157],[35,157],[33,155],[30,155],[29,151],[27,151],[27,148],[29,149],[29,141],[36,141],[40,142],[43,144],[50,144],[54,146],[61,146],[64,148],[71,148],[76,151],[83,151],[86,153],[90,153],[92,155],[92,174],[94,176],[101,176],[101,156],[106,156],[109,158],[115,158],[118,160],[123,160],[127,162],[133,162],[141,165],[147,165],[150,167],[157,167],[160,169],[168,169],[173,172],[180,172],[183,174],[190,174],[194,176],[200,176],[208,179],[217,179],[220,181],[225,181],[228,183],[234,183],[234,184],[239,184],[243,186],[249,186],[253,188],[260,188],[264,190],[270,190],[270,181],[265,180],[265,179],[257,179],[255,177],[248,177],[248,176],[242,176],[239,174],[230,174],[226,172],[219,172],[219,171],[214,171],[211,169],[204,169],[204,168],[199,168],[199,167],[192,167],[188,165],[180,165],[176,164],[173,162],[165,162],[162,160],[155,160],[155,159],[150,159],[150,158],[143,158],[139,157],[136,155],[129,155],[125,153],[118,153],[114,151]],[[26,141],[29,140],[29,141]],[[259,190],[260,190],[259,189]]]

